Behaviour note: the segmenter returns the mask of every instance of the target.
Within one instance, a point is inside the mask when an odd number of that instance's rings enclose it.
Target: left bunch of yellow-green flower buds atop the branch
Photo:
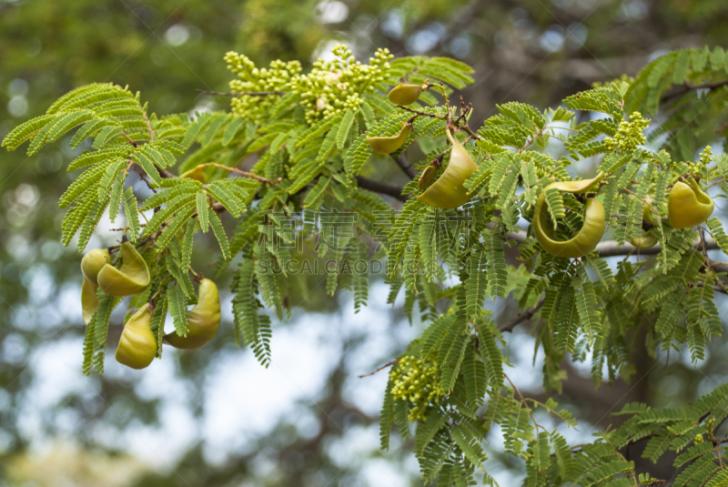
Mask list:
[[[227,69],[238,75],[238,79],[230,81],[232,93],[288,91],[288,82],[302,69],[298,61],[284,63],[279,59],[272,61],[269,68],[258,69],[248,56],[233,51],[225,55],[225,61]],[[238,117],[254,119],[262,117],[279,99],[279,95],[236,96],[230,105]]]

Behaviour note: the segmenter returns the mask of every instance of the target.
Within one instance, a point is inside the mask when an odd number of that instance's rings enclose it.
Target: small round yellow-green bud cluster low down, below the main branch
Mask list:
[[[409,401],[410,421],[423,420],[431,402],[440,402],[445,391],[440,387],[440,370],[434,364],[405,355],[399,359],[397,368],[392,370],[394,387],[391,393],[395,399]]]

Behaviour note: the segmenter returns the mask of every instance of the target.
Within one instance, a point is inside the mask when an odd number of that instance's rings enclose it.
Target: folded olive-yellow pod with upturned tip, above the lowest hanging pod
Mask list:
[[[110,296],[132,296],[149,285],[147,262],[129,242],[121,244],[121,269],[106,264],[98,273],[98,285]]]

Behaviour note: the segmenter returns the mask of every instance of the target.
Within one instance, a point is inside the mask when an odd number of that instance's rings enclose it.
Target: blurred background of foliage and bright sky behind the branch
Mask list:
[[[95,81],[139,90],[160,115],[225,109],[229,98],[196,89],[227,91],[228,50],[258,66],[278,58],[306,66],[337,42],[360,59],[389,47],[469,63],[476,81],[462,95],[477,127],[498,103],[553,107],[667,50],[725,46],[725,25],[725,0],[0,0],[0,138]],[[379,451],[386,372],[357,378],[421,331],[400,303],[384,304],[376,279],[358,315],[346,292],[331,299],[315,280],[299,282],[293,318],[274,323],[267,370],[235,346],[227,309],[204,349],[166,351],[141,372],[107,360],[102,377],[83,376],[81,255],[59,242],[56,206],[75,176],[66,173],[73,154],[64,140],[33,158],[0,152],[0,485],[421,484],[411,444]],[[98,231],[89,249],[109,244]],[[195,266],[205,267],[206,242],[196,245]],[[517,312],[510,299],[490,306],[503,322]],[[539,396],[529,332],[511,337],[511,377]],[[609,426],[608,412],[625,401],[680,405],[728,375],[720,342],[698,369],[675,353],[635,359],[635,380],[597,391],[588,363],[564,364],[569,379],[557,399],[581,420],[571,439]],[[498,441],[489,450],[489,471],[517,482],[522,465],[500,455]]]

